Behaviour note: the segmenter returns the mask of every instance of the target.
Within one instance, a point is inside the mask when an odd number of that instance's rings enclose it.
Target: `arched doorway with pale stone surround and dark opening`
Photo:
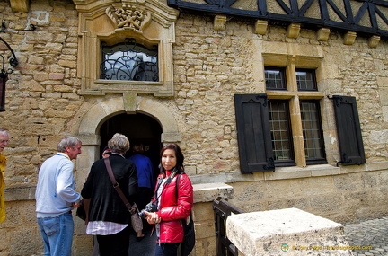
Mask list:
[[[131,143],[139,138],[147,138],[145,141],[151,141],[151,149],[156,151],[152,154],[153,159],[157,157],[157,160],[154,160],[155,165],[159,164],[159,150],[163,144],[181,141],[178,121],[173,111],[167,104],[153,97],[131,93],[114,94],[89,103],[84,109],[81,108],[79,115],[75,116],[70,126],[78,129],[75,136],[83,142],[82,154],[77,157],[75,171],[75,181],[81,186],[92,164],[101,158],[101,150],[116,132],[128,136]],[[147,131],[147,128],[151,129],[151,132]],[[145,135],[151,136],[145,137]],[[158,172],[157,169],[154,171]],[[84,222],[75,221],[75,234],[74,243],[77,244],[74,249],[75,254],[91,254],[93,239],[85,234]],[[140,246],[142,243],[146,241],[131,244]],[[148,247],[152,250],[154,241]],[[140,248],[138,252],[142,255],[154,255],[152,252],[144,253],[144,248]]]

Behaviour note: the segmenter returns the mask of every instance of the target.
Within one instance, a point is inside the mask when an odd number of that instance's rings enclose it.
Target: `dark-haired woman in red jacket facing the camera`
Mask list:
[[[193,188],[189,176],[184,173],[183,160],[180,146],[163,146],[161,174],[158,176],[153,198],[156,211],[145,211],[146,220],[155,225],[158,236],[155,256],[177,255],[183,239],[181,219],[190,216]]]

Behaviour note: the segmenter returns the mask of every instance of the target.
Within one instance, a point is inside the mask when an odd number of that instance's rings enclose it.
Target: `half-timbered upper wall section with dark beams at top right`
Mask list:
[[[388,38],[388,2],[380,0],[168,0],[168,4],[183,11],[299,23]]]

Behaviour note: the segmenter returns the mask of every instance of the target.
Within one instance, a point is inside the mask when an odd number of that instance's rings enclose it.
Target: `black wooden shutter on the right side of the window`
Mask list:
[[[343,165],[366,163],[355,97],[333,96],[340,157]]]

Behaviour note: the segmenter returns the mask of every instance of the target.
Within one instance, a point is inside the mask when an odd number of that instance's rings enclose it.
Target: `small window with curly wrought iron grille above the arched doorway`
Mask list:
[[[113,46],[101,43],[101,79],[121,81],[159,81],[157,45],[146,48],[127,38]]]

